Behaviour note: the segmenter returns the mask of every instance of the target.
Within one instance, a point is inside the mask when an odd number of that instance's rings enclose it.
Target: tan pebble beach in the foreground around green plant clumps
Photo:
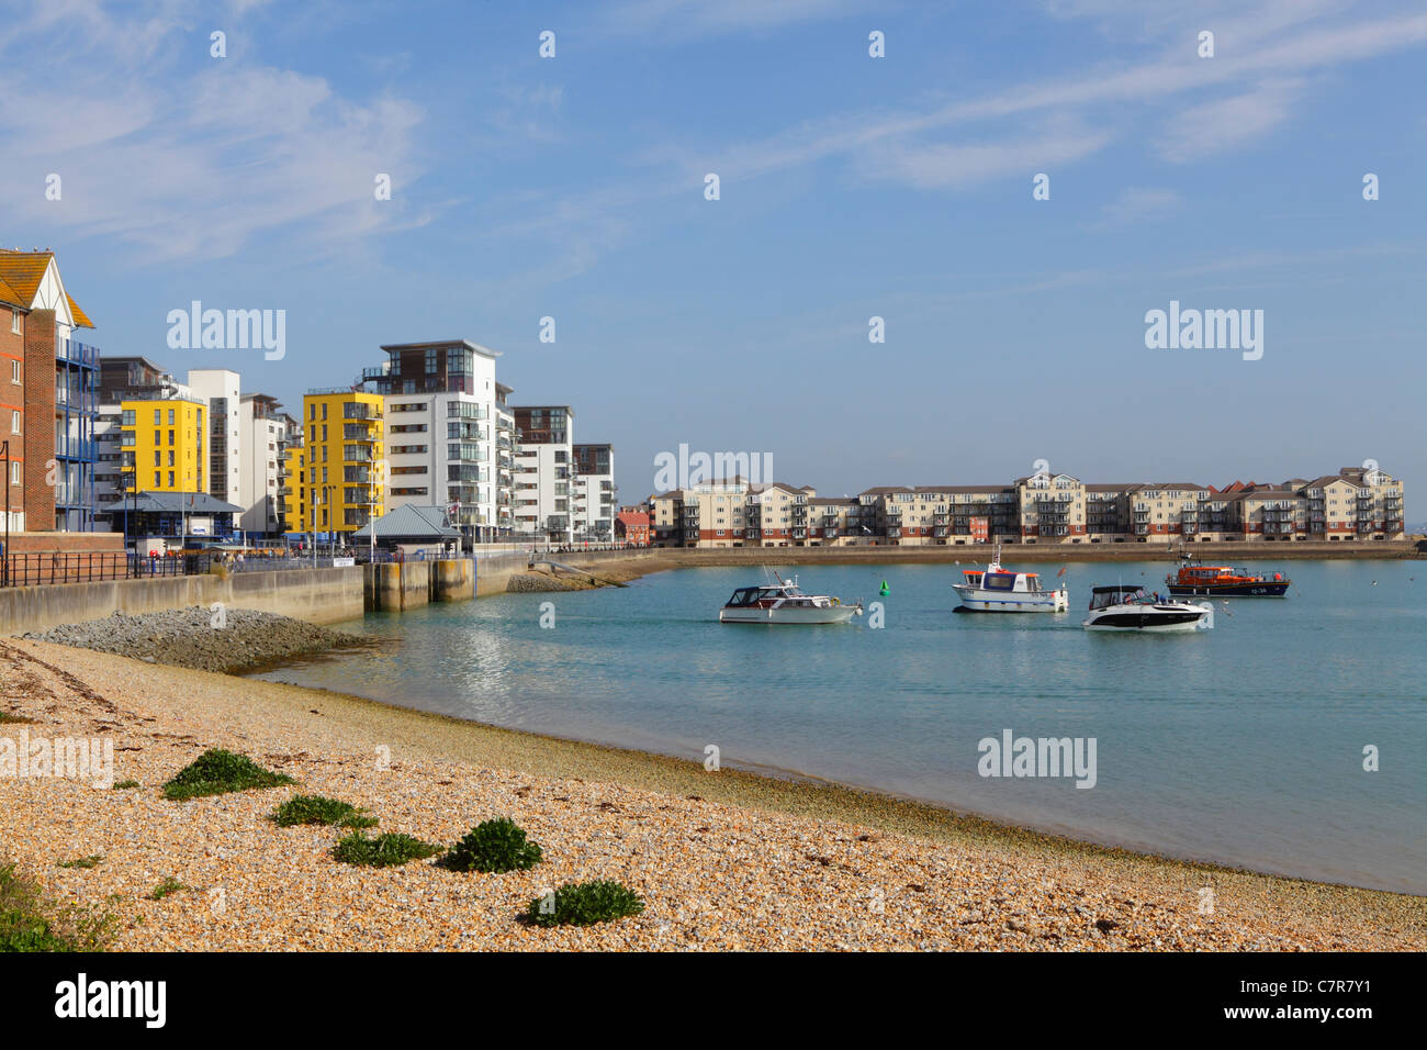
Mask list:
[[[1423,950],[1427,899],[1102,849],[835,784],[479,726],[280,683],[0,641],[0,737],[113,740],[116,781],[0,776],[0,863],[116,917],[111,950]],[[24,720],[24,721],[19,721]],[[295,784],[167,801],[211,747]],[[507,874],[337,861],[294,794],[451,844],[508,816]],[[60,867],[98,857],[88,867]],[[645,910],[517,919],[614,879]],[[164,880],[183,889],[151,899]]]

